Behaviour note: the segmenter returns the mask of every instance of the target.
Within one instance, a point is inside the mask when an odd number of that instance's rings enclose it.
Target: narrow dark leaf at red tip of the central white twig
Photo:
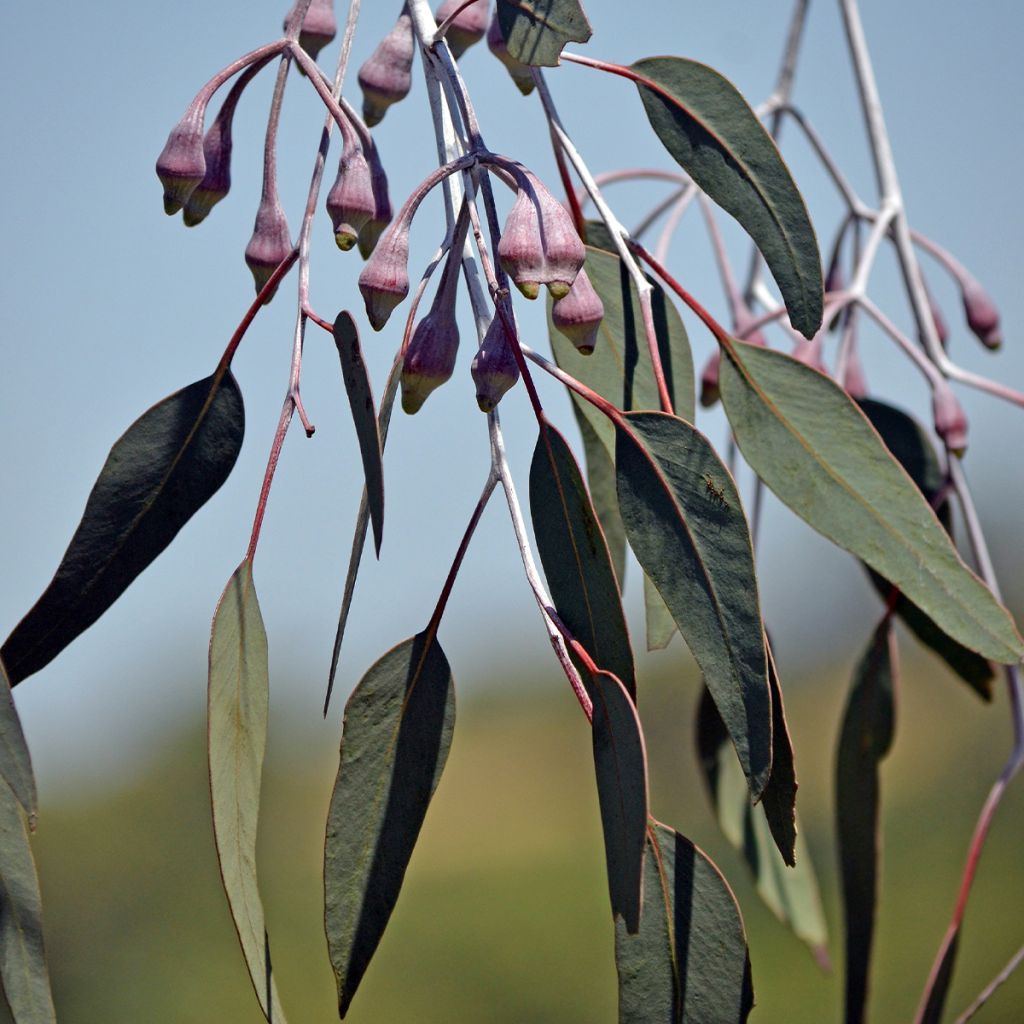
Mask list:
[[[633,699],[608,672],[583,674],[594,703],[594,768],[604,829],[611,912],[640,928],[647,829],[647,755]]]

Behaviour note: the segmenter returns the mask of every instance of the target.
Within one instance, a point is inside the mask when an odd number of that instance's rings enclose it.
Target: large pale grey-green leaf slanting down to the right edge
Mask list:
[[[1024,656],[1006,608],[842,388],[788,355],[737,341],[720,383],[743,457],[790,508],[965,646],[995,662]]]

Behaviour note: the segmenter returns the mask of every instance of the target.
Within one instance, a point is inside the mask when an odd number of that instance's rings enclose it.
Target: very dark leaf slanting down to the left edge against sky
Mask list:
[[[117,441],[56,574],[0,650],[11,685],[56,657],[227,479],[245,411],[230,371],[164,398]]]

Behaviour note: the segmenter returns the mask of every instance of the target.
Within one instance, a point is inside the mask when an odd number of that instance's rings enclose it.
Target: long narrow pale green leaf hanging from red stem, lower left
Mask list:
[[[256,881],[256,831],[269,695],[266,631],[246,559],[231,574],[210,635],[209,758],[220,877],[263,1016],[285,1024]]]

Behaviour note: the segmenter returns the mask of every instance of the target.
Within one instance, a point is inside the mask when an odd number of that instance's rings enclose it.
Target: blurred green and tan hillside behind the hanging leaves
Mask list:
[[[677,641],[652,656],[640,680],[653,812],[703,847],[736,891],[754,965],[753,1019],[839,1020],[840,972],[820,972],[777,924],[717,833],[690,738],[698,679],[691,663],[680,668],[680,650]],[[553,670],[536,675],[531,680],[521,666],[496,672],[490,686],[465,696],[397,909],[349,1014],[354,1024],[615,1019],[590,737]],[[274,683],[287,688],[287,681]],[[813,678],[783,678],[783,685],[801,813],[840,965],[831,750],[848,674],[830,667]],[[1009,750],[1006,701],[997,692],[985,707],[937,660],[904,667],[896,741],[882,780],[885,858],[871,1014],[880,1024],[910,1019],[952,908],[970,830]],[[337,716],[323,723],[312,711],[307,721],[271,722],[262,887],[293,1024],[336,1019],[321,870],[338,732]],[[83,792],[71,784],[41,795],[36,848],[63,1024],[262,1019],[217,878],[204,743],[197,724],[116,787]],[[950,1019],[1024,941],[1022,811],[1018,785],[983,856]],[[1014,1024],[1022,1007],[1018,976],[976,1019]]]

